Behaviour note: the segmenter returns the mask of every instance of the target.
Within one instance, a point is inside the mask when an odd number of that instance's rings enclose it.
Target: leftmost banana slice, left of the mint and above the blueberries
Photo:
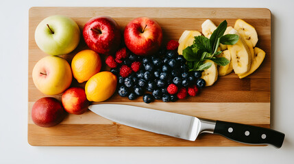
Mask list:
[[[186,49],[187,46],[191,46],[194,42],[195,36],[201,36],[201,33],[199,31],[184,31],[182,33],[182,36],[179,39],[179,46],[177,47],[177,53],[179,55],[183,54],[183,50]]]

